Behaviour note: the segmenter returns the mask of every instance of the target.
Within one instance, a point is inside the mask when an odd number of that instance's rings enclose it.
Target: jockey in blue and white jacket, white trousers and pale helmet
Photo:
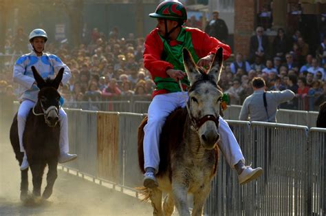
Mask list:
[[[72,76],[69,67],[65,65],[58,56],[43,52],[45,43],[47,41],[47,34],[42,29],[35,29],[30,32],[30,44],[33,50],[29,54],[24,54],[19,57],[14,64],[13,79],[14,83],[19,84],[19,106],[17,121],[18,121],[18,135],[21,152],[24,153],[21,170],[28,169],[28,158],[23,147],[23,133],[25,129],[25,122],[30,109],[34,107],[39,94],[39,88],[36,85],[31,67],[34,66],[43,78],[54,78],[55,73],[61,67],[65,68],[63,72],[63,79],[61,83],[67,84],[69,78]],[[60,120],[60,155],[58,158],[59,163],[68,162],[77,158],[76,154],[69,154],[69,140],[68,140],[68,122],[67,114],[61,108],[59,110]]]

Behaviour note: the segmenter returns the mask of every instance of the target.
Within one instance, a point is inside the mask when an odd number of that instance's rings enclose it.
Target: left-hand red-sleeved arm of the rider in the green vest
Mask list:
[[[144,66],[149,70],[151,76],[166,78],[166,70],[172,69],[173,65],[166,61],[160,60],[163,52],[163,42],[157,34],[157,30],[153,30],[146,36],[144,50]]]

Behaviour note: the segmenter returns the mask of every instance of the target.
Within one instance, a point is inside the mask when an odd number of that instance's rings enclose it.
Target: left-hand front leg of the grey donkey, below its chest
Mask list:
[[[172,184],[173,199],[179,215],[190,215],[187,203],[187,188],[184,184],[175,182]]]

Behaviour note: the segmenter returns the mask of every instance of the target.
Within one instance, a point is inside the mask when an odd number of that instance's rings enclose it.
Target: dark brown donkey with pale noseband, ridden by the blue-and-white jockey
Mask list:
[[[32,66],[32,72],[40,91],[38,100],[26,119],[23,145],[32,171],[33,197],[36,201],[41,198],[42,177],[46,164],[49,171],[47,186],[42,195],[44,199],[52,195],[54,182],[58,176],[56,166],[60,152],[60,124],[58,124],[60,94],[57,90],[63,78],[63,71],[64,68],[61,68],[54,79],[43,80],[39,72]],[[23,161],[23,153],[19,147],[17,114],[10,127],[10,142],[20,166]],[[21,200],[26,201],[27,198],[28,169],[25,169],[21,171]]]

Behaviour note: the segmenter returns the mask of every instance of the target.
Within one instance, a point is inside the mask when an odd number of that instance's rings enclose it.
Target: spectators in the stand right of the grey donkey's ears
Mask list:
[[[232,104],[241,105],[252,94],[248,83],[261,76],[268,90],[291,89],[296,97],[281,105],[284,109],[318,110],[326,99],[326,36],[317,50],[309,48],[301,32],[293,36],[279,28],[270,43],[264,28],[258,26],[250,39],[250,54],[243,58],[235,54],[235,60],[226,66],[221,76],[221,87],[227,89]]]

